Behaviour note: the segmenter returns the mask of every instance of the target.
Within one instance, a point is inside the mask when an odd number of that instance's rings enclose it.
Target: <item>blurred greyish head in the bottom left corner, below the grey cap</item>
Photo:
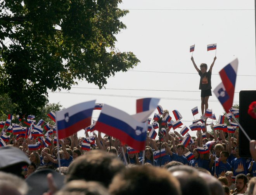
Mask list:
[[[25,195],[27,183],[18,176],[0,171],[0,194]]]

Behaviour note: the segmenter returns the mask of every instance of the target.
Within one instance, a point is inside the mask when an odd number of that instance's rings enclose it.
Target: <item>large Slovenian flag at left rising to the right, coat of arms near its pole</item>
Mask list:
[[[66,138],[91,124],[95,100],[73,105],[56,112],[59,139]]]

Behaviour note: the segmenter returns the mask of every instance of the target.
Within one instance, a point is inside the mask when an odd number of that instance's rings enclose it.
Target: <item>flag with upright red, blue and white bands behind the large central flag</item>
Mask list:
[[[142,98],[136,100],[136,113],[155,110],[159,100],[158,98]]]

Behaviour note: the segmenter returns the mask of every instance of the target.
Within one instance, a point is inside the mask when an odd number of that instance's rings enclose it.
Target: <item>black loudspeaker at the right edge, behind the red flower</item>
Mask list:
[[[256,101],[256,90],[243,90],[239,93],[239,123],[251,140],[256,140],[256,119],[248,114],[251,102]],[[249,140],[239,128],[239,155],[251,158]]]

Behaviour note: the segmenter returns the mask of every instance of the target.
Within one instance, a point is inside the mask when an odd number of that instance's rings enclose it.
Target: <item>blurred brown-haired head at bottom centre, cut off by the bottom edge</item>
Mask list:
[[[157,186],[152,187],[152,186]],[[109,185],[111,195],[180,195],[180,185],[166,169],[135,166],[117,174]]]

